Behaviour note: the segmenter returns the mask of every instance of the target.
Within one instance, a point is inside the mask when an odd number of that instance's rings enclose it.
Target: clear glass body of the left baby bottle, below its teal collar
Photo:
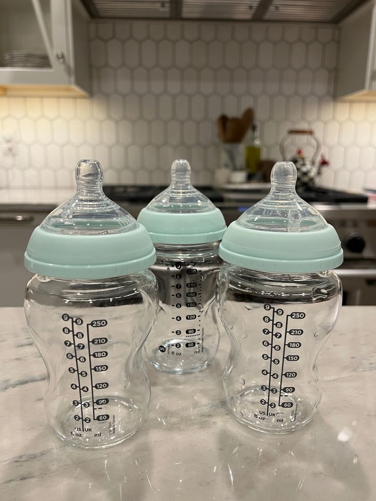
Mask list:
[[[157,284],[148,270],[29,281],[26,319],[48,372],[44,408],[62,440],[100,448],[137,431],[149,407],[142,348],[156,309]]]

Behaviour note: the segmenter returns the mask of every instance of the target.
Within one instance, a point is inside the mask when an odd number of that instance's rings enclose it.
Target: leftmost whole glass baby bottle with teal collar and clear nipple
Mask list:
[[[146,229],[104,195],[99,162],[81,160],[76,181],[30,238],[25,314],[48,372],[48,421],[65,442],[99,448],[133,435],[148,410],[156,257]]]

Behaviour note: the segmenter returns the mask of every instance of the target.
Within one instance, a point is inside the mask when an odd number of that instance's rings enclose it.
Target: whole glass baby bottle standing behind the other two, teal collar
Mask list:
[[[221,211],[192,186],[189,162],[175,160],[171,178],[138,216],[157,251],[151,270],[160,294],[145,350],[155,368],[187,373],[204,369],[217,352],[215,286],[226,225]]]

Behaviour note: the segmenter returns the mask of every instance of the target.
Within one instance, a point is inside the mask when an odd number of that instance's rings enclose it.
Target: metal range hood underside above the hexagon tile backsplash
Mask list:
[[[92,18],[337,23],[365,0],[81,0]]]

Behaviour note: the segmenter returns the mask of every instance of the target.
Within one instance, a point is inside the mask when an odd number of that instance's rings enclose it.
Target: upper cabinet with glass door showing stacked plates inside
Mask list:
[[[0,94],[87,96],[87,30],[79,0],[1,0]]]

